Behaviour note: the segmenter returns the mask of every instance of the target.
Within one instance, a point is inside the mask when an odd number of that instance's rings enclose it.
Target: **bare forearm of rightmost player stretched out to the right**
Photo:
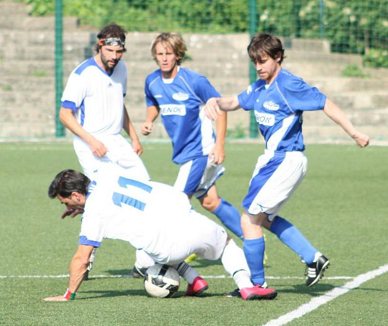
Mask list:
[[[370,139],[369,136],[358,132],[353,124],[350,122],[349,118],[346,116],[338,105],[333,103],[330,99],[326,98],[326,103],[323,108],[323,112],[335,123],[339,124],[345,132],[352,137],[358,147],[368,146]]]

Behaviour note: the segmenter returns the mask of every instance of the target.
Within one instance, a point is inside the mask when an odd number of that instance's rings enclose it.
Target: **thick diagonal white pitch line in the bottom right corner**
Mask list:
[[[379,268],[367,272],[365,274],[358,275],[353,280],[345,283],[343,286],[339,286],[326,292],[324,295],[317,296],[310,300],[310,302],[305,303],[296,310],[290,311],[283,316],[280,316],[277,319],[270,320],[267,324],[263,326],[280,326],[285,325],[292,320],[302,317],[303,315],[311,312],[312,310],[317,309],[319,306],[324,305],[325,303],[335,299],[339,295],[344,295],[345,293],[359,287],[362,283],[374,279],[376,276],[382,275],[388,272],[388,264],[380,266]],[[325,278],[328,279],[328,278]]]

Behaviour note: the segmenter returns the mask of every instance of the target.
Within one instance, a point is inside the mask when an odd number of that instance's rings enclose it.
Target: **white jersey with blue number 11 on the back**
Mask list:
[[[105,165],[92,177],[81,219],[80,245],[103,239],[128,241],[138,249],[169,250],[187,228],[191,204],[172,186],[132,178],[131,171]]]

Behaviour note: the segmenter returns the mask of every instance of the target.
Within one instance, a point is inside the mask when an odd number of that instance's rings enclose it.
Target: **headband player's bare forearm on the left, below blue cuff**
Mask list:
[[[82,128],[81,124],[79,124],[75,118],[72,109],[61,107],[59,111],[59,119],[67,129],[89,144],[94,155],[101,157],[106,154],[107,148],[105,145]]]

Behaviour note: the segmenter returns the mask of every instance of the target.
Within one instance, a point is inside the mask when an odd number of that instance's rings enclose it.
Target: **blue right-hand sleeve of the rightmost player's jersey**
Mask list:
[[[322,110],[326,103],[326,95],[296,76],[287,80],[280,87],[280,92],[284,96],[286,104],[293,112],[297,110]]]

